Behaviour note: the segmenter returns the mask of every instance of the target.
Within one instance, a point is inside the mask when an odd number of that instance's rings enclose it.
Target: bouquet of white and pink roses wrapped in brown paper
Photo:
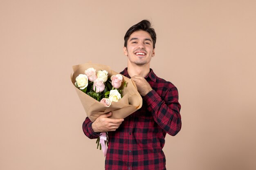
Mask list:
[[[110,111],[110,118],[124,119],[141,108],[142,98],[135,83],[109,66],[85,63],[73,66],[73,70],[72,83],[91,121]],[[106,156],[107,134],[101,133],[96,143]]]

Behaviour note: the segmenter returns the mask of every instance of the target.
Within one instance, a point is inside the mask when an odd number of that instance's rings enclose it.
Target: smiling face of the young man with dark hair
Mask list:
[[[151,57],[155,55],[150,34],[142,30],[133,32],[127,41],[127,47],[124,47],[124,55],[128,57],[128,66],[129,64],[149,66]]]

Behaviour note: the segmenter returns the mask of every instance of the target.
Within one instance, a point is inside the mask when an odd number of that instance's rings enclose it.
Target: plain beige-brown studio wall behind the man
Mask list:
[[[182,105],[167,169],[255,170],[255,9],[254,0],[0,0],[0,169],[104,169],[82,131],[72,66],[122,71],[124,34],[148,19],[151,68]]]

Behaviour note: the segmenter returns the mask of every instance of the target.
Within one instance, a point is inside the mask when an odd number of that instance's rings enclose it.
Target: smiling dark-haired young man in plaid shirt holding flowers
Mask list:
[[[121,74],[135,81],[142,107],[125,119],[110,119],[111,112],[94,122],[87,117],[83,132],[94,139],[99,132],[108,131],[106,170],[166,170],[164,138],[166,133],[176,135],[181,128],[178,91],[150,68],[156,34],[148,20],[130,27],[124,40],[128,67]]]

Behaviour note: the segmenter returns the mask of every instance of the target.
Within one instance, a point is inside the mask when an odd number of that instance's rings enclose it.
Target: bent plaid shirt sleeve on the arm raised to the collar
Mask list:
[[[155,90],[144,96],[148,110],[152,113],[155,122],[169,135],[175,136],[181,129],[180,104],[178,91],[174,86],[166,91],[162,99]]]

